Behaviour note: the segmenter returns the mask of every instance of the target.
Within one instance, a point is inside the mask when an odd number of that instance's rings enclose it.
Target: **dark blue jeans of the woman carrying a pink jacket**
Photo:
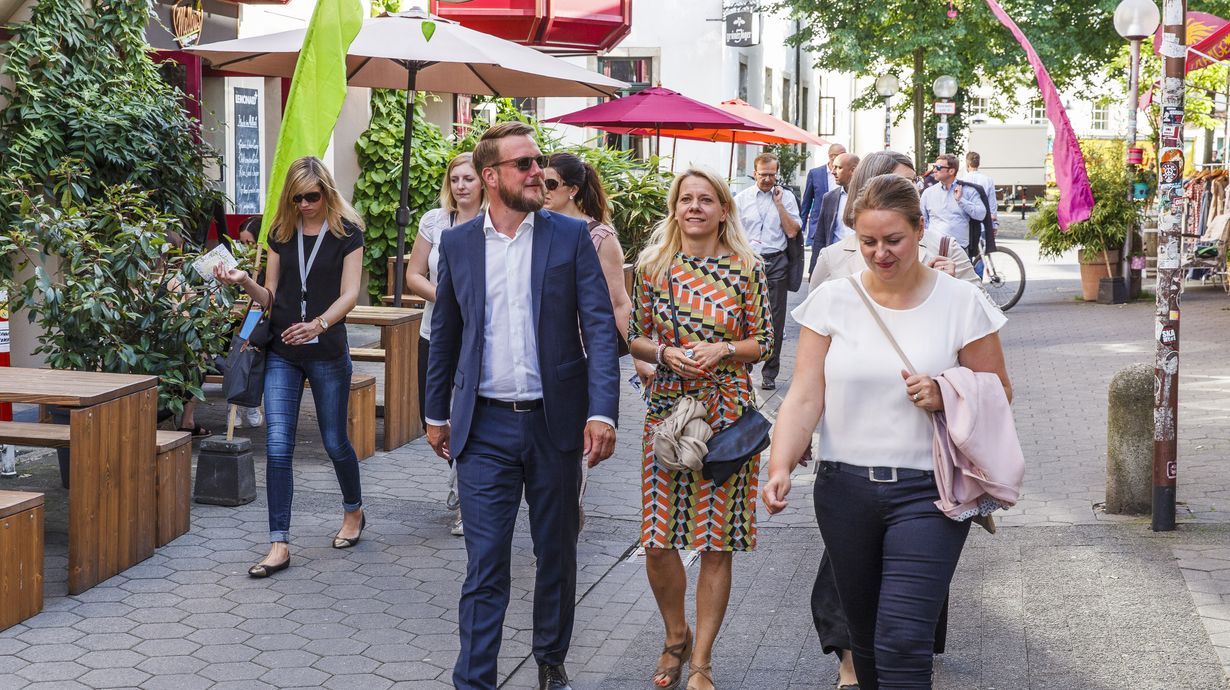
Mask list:
[[[863,690],[931,688],[936,621],[969,534],[938,498],[931,476],[877,483],[820,465],[815,519]]]

